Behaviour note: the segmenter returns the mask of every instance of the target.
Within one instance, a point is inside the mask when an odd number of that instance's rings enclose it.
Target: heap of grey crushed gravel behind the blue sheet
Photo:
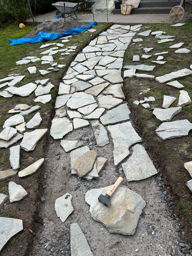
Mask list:
[[[41,24],[37,25],[29,34],[25,35],[24,38],[37,37],[40,31],[46,33],[64,33],[68,29],[75,29],[77,27],[85,27],[88,24],[86,22],[75,21],[67,19],[64,21],[63,18],[45,20]]]

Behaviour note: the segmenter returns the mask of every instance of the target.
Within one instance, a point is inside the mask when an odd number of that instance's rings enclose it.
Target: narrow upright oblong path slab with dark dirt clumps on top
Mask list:
[[[107,145],[109,143],[109,138],[105,127],[101,123],[99,123],[98,120],[93,120],[90,123],[93,128],[97,146],[103,147]]]

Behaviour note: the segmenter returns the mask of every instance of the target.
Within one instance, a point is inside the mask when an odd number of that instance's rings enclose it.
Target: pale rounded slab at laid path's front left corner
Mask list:
[[[64,135],[73,130],[73,125],[68,118],[54,118],[51,121],[50,135],[54,139],[62,139]]]

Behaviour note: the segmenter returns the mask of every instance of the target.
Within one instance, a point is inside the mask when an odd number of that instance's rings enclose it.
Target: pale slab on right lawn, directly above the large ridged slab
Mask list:
[[[171,119],[181,112],[182,107],[169,107],[168,109],[154,108],[153,114],[162,122],[171,121]]]

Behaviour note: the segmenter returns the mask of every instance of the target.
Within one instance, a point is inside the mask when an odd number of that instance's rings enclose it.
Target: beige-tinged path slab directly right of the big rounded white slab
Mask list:
[[[123,100],[114,98],[112,95],[98,95],[97,97],[99,106],[105,109],[112,109],[115,106],[119,106]]]

